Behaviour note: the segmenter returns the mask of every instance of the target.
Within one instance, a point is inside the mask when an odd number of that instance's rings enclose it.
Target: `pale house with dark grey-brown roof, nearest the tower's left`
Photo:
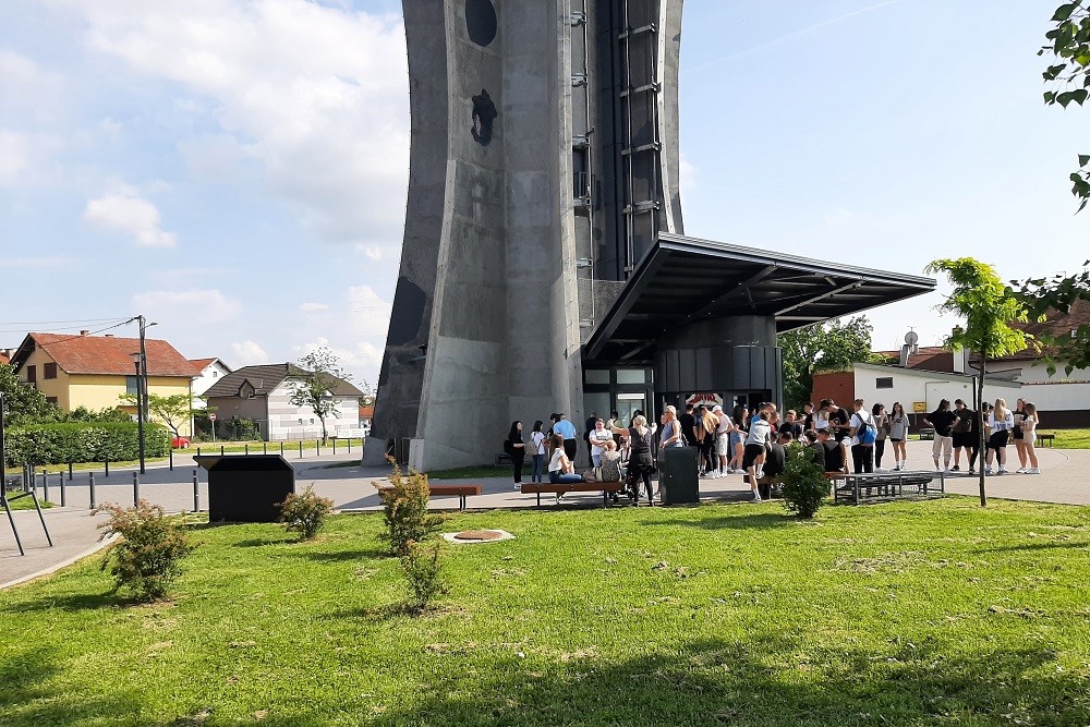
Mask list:
[[[291,363],[243,366],[214,384],[204,397],[216,408],[221,422],[247,419],[257,424],[262,437],[270,440],[313,439],[322,436],[322,422],[310,407],[291,403],[295,386],[307,372]],[[360,397],[363,392],[343,379],[335,379],[327,392],[334,413],[326,419],[330,436],[360,428]]]

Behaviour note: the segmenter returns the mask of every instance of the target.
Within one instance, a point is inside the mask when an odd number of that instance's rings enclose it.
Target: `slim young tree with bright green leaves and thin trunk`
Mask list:
[[[984,377],[988,360],[1010,355],[1026,350],[1032,336],[1012,323],[1026,323],[1029,318],[1026,305],[1018,300],[985,263],[971,257],[932,260],[927,272],[945,272],[954,290],[938,306],[960,316],[964,325],[955,328],[946,339],[952,350],[969,349],[980,354],[980,376],[977,378],[977,401],[984,401]],[[979,427],[980,451],[984,451],[984,427]],[[984,468],[980,468],[980,506],[988,505],[984,493]]]

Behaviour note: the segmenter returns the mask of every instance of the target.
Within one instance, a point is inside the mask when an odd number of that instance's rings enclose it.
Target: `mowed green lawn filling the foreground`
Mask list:
[[[969,498],[455,516],[405,614],[377,516],[201,526],[173,601],[0,592],[2,725],[1086,725],[1090,511]]]

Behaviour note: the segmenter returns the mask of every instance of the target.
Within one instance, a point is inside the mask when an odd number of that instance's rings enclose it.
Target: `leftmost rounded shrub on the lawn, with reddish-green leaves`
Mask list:
[[[180,561],[193,552],[182,529],[161,507],[145,500],[128,509],[102,505],[97,511],[110,513],[110,520],[99,528],[122,537],[102,561],[104,570],[113,561],[114,591],[128,589],[138,602],[165,597],[181,575]]]

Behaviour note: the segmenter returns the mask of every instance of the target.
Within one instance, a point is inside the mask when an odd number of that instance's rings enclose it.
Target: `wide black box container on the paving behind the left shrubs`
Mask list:
[[[276,522],[295,492],[295,471],[279,455],[201,455],[208,470],[209,522]]]

